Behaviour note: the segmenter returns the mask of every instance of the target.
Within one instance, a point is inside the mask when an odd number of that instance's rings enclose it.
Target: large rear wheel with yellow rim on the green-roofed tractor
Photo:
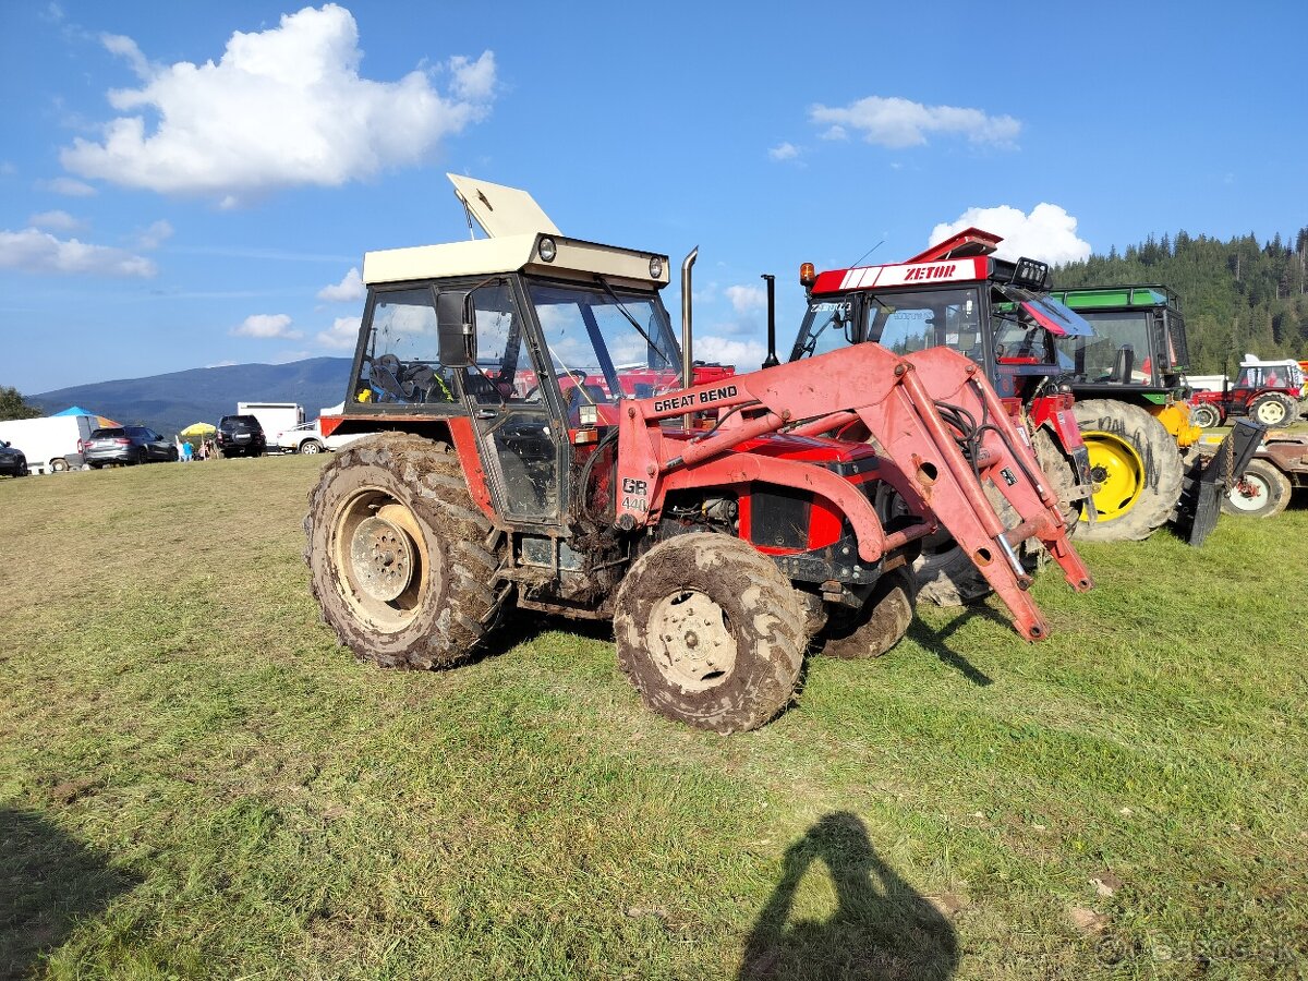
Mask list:
[[[1090,399],[1073,405],[1082,438],[1090,447],[1095,479],[1105,455],[1134,454],[1139,471],[1130,483],[1130,496],[1103,509],[1093,523],[1082,522],[1078,535],[1086,542],[1141,542],[1167,523],[1181,498],[1185,468],[1176,439],[1167,428],[1139,405],[1113,399]],[[1134,498],[1124,509],[1124,505]],[[1096,497],[1096,505],[1100,498]],[[1101,506],[1101,505],[1100,505]]]

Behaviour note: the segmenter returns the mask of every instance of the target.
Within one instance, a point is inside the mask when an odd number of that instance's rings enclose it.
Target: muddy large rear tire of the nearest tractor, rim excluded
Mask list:
[[[413,623],[394,634],[360,624],[339,594],[331,547],[335,508],[356,479],[371,479],[405,504],[429,539],[426,561],[442,564],[437,595],[425,596]],[[358,657],[385,667],[451,667],[484,644],[500,607],[488,585],[500,559],[488,548],[490,522],[472,502],[445,443],[404,433],[352,443],[323,467],[303,526],[314,596],[340,642]]]

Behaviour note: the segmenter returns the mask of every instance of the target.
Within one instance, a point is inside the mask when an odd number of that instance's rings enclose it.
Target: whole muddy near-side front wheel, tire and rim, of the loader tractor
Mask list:
[[[702,532],[632,564],[613,634],[617,666],[650,709],[723,734],[757,729],[790,704],[808,646],[803,600],[776,562]],[[697,659],[701,645],[719,657]]]

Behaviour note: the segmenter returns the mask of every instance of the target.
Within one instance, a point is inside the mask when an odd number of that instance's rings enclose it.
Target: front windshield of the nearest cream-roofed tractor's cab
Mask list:
[[[680,348],[657,293],[528,281],[564,398],[612,403],[681,386]]]

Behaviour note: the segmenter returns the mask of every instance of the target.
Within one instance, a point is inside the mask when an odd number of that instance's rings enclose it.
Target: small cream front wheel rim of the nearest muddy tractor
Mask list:
[[[655,603],[649,637],[659,674],[688,692],[722,684],[735,667],[729,617],[706,593],[680,590]]]

